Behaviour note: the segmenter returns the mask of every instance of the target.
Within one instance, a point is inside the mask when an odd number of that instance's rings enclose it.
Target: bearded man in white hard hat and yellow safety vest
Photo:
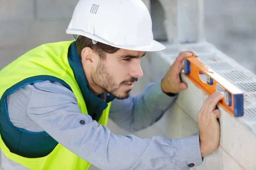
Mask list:
[[[163,79],[130,96],[140,58],[165,48],[142,1],[80,0],[67,33],[76,41],[41,45],[0,71],[1,170],[186,170],[218,147],[221,93],[198,113],[200,137],[140,139],[105,126],[108,116],[132,132],[152,125],[187,88],[183,59],[198,57],[181,52]]]

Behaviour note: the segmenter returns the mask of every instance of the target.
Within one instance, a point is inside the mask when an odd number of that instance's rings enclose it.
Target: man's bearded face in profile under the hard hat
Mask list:
[[[144,51],[124,49],[106,53],[106,58],[99,59],[91,74],[93,83],[117,99],[128,98],[134,82],[143,76],[140,58],[144,55]]]

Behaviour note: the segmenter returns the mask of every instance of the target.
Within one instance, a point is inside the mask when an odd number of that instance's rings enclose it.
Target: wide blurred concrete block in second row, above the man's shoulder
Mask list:
[[[69,21],[1,21],[0,46],[28,45],[36,47],[43,43],[73,40],[66,34]]]

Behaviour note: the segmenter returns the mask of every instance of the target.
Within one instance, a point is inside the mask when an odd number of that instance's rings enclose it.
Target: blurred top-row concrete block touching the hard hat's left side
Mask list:
[[[71,19],[79,0],[37,0],[39,20]]]

